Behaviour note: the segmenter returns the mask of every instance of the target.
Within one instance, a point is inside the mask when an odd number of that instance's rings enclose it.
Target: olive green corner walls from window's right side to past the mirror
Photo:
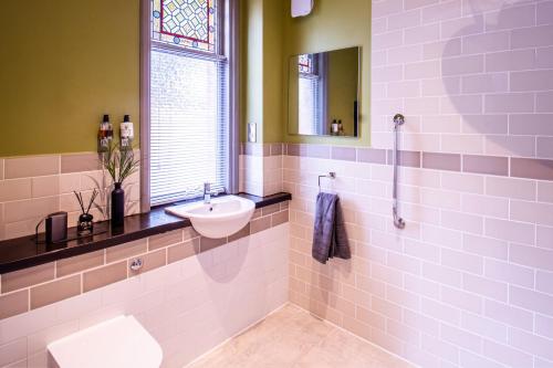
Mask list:
[[[246,124],[258,124],[258,143],[369,144],[371,1],[317,0],[313,12],[290,15],[290,0],[242,0],[242,92]],[[289,59],[301,53],[362,48],[359,138],[288,134]]]

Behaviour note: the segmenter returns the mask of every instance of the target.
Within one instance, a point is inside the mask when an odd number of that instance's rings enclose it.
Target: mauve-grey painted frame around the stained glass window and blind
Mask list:
[[[228,182],[229,193],[239,188],[239,122],[240,122],[240,43],[239,43],[239,0],[217,0],[216,50],[213,52],[192,50],[152,40],[152,0],[140,0],[140,212],[149,212],[150,204],[150,60],[152,50],[175,52],[182,56],[206,57],[209,60],[227,59],[228,62]],[[165,207],[160,204],[155,207]]]

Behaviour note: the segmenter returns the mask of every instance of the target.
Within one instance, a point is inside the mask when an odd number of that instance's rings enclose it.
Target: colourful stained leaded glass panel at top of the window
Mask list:
[[[217,0],[152,0],[153,40],[216,51]]]

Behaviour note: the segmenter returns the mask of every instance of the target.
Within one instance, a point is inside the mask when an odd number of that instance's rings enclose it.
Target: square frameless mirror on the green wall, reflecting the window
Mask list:
[[[358,136],[359,48],[290,57],[288,132]]]

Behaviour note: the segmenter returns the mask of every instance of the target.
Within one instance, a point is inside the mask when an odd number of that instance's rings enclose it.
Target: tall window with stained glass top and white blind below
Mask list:
[[[231,191],[226,1],[148,1],[149,203],[199,197],[204,182]]]

